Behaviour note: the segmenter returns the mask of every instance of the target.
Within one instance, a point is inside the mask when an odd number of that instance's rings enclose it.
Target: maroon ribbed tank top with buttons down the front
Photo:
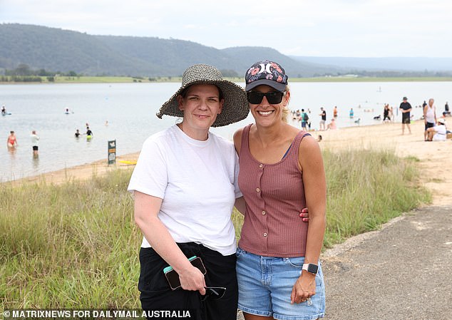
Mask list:
[[[287,155],[265,164],[250,153],[251,125],[242,133],[239,186],[247,202],[239,247],[267,257],[304,257],[308,224],[299,217],[306,207],[302,172],[298,167],[300,131]]]

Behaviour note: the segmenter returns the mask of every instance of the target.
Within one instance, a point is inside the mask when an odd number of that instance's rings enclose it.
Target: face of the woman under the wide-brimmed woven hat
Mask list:
[[[210,126],[221,113],[224,99],[214,85],[198,84],[190,86],[184,96],[178,96],[180,110],[184,113],[183,131],[191,138],[206,135]]]

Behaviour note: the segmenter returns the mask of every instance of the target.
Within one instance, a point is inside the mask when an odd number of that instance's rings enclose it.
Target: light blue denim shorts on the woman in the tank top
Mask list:
[[[304,257],[264,257],[237,248],[238,308],[248,314],[280,320],[308,320],[325,315],[322,266],[316,276],[316,294],[290,304],[292,287],[302,272]]]

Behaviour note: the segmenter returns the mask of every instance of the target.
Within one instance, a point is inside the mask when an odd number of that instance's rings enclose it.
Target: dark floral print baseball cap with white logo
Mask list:
[[[245,73],[245,91],[260,85],[270,86],[284,92],[289,77],[278,63],[264,60],[253,64]]]

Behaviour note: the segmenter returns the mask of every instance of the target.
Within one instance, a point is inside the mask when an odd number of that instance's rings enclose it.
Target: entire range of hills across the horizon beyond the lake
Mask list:
[[[194,63],[208,63],[243,77],[264,58],[284,66],[289,78],[344,75],[451,76],[452,58],[346,58],[284,56],[273,48],[203,46],[192,41],[134,36],[93,36],[46,26],[0,24],[0,74],[30,68],[86,76],[181,76]],[[428,71],[428,72],[426,72]]]

